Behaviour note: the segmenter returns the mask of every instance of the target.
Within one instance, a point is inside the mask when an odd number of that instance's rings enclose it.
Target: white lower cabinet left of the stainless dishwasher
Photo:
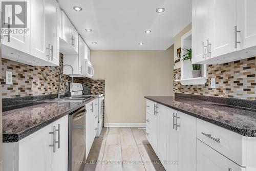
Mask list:
[[[3,170],[68,170],[68,123],[67,115],[18,142],[3,143]]]

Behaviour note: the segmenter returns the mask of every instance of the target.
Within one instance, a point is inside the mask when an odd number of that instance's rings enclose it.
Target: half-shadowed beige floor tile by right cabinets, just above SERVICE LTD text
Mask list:
[[[148,161],[159,161],[156,153],[154,152],[154,149],[150,144],[147,145],[138,145],[140,156],[142,158],[142,161],[148,162]]]

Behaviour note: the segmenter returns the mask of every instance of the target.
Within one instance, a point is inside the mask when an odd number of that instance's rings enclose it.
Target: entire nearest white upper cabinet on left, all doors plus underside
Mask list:
[[[27,28],[22,30],[27,32],[4,35],[3,57],[32,66],[59,66],[58,3],[56,0],[25,2]]]

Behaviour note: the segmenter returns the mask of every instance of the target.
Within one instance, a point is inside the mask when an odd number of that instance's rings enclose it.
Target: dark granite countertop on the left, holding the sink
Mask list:
[[[97,98],[82,102],[34,102],[31,106],[3,112],[3,142],[17,142]]]

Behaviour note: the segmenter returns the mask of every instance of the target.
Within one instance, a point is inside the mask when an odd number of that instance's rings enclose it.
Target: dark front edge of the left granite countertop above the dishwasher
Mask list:
[[[93,96],[92,98],[88,99],[87,101],[84,101],[81,104],[75,106],[75,108],[72,108],[72,109],[62,112],[62,113],[59,113],[57,116],[54,116],[54,117],[52,117],[44,122],[41,122],[35,126],[32,126],[29,129],[26,129],[26,130],[20,132],[19,134],[3,134],[3,143],[18,142],[18,141],[26,138],[27,136],[37,132],[38,130],[44,128],[45,126],[51,124],[52,122],[62,118],[63,116],[66,116],[66,115],[78,110],[79,108],[82,108],[82,106],[86,105],[87,103],[89,103],[90,101],[92,101],[96,98],[98,98],[98,97]]]

